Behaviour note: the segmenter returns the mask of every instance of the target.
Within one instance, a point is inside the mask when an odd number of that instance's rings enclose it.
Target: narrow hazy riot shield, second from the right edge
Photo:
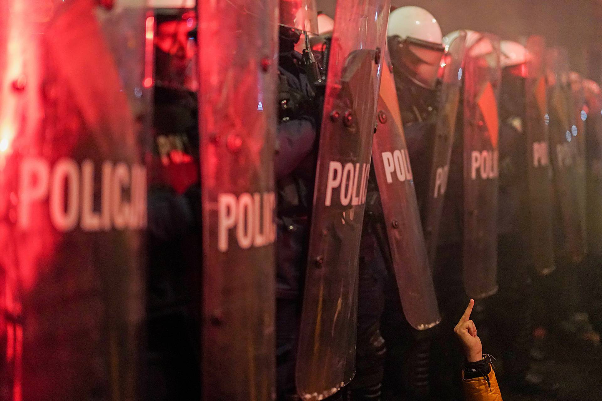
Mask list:
[[[571,134],[574,142],[577,144],[576,165],[577,181],[575,184],[575,193],[579,202],[579,216],[581,218],[581,227],[583,238],[587,245],[587,213],[586,213],[586,130],[585,120],[587,118],[585,91],[583,89],[583,78],[576,72],[569,73],[569,91],[567,93],[571,113]],[[576,127],[574,129],[573,127]]]

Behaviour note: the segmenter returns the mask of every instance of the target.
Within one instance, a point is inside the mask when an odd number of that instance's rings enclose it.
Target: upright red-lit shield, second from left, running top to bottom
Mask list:
[[[206,400],[275,394],[276,7],[198,7]]]

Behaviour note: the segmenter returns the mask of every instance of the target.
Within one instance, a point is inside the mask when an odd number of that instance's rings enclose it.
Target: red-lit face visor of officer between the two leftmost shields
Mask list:
[[[198,90],[196,27],[194,11],[157,16],[155,75],[158,86]]]

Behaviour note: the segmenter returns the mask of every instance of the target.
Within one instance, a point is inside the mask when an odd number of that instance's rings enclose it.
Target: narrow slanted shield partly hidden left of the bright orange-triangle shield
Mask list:
[[[443,76],[439,94],[438,115],[435,128],[433,162],[430,167],[429,192],[423,209],[424,238],[429,256],[429,265],[435,263],[439,239],[439,224],[443,211],[445,189],[449,173],[452,145],[456,132],[456,117],[462,83],[462,61],[464,60],[466,32],[461,31],[444,55]],[[443,63],[442,63],[443,64]]]

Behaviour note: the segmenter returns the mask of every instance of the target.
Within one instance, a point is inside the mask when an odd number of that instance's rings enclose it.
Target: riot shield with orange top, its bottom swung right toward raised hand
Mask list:
[[[388,56],[388,55],[387,55]],[[372,160],[403,313],[415,329],[441,320],[393,74],[383,69]]]

